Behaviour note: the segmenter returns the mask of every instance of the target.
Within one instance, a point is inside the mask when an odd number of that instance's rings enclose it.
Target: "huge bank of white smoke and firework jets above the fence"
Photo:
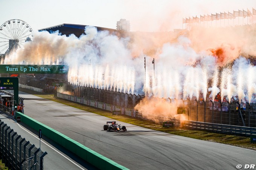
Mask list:
[[[26,42],[24,48],[6,56],[3,64],[66,64],[71,84],[124,93],[146,92],[146,95],[159,98],[205,100],[210,91],[213,99],[221,92],[222,100],[230,101],[236,96],[252,100],[256,85],[250,74],[255,67],[244,57],[223,69],[222,76],[218,77],[218,58],[209,55],[207,48],[195,50],[190,35],[173,36],[169,42],[152,47],[150,53],[148,49],[137,53],[139,46],[134,48],[137,40],[131,37],[98,32],[91,26],[85,27],[85,35],[80,38],[59,36],[58,32],[36,32],[33,42]],[[153,57],[155,69],[151,63]],[[209,81],[212,84],[209,85]]]

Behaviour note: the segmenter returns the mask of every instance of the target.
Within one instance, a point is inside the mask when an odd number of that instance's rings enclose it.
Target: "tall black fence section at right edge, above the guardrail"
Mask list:
[[[189,119],[197,122],[256,127],[256,104],[187,101]]]

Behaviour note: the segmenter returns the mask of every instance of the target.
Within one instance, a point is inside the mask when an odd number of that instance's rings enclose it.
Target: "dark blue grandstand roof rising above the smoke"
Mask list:
[[[49,33],[53,33],[57,30],[59,30],[59,33],[61,35],[66,35],[69,36],[70,34],[74,34],[76,37],[80,37],[84,33],[86,25],[77,25],[77,24],[60,24],[58,26],[53,26],[45,29],[40,29],[38,31],[48,31]],[[116,29],[108,29],[108,28],[103,28],[103,27],[96,27],[98,31],[104,31],[107,30],[110,33],[121,33],[122,35],[125,34],[125,31],[122,30],[116,30]]]

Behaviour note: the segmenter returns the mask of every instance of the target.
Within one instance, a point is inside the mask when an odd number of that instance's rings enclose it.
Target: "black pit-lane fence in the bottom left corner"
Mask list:
[[[0,123],[0,158],[9,169],[43,170],[42,152],[4,122]]]

